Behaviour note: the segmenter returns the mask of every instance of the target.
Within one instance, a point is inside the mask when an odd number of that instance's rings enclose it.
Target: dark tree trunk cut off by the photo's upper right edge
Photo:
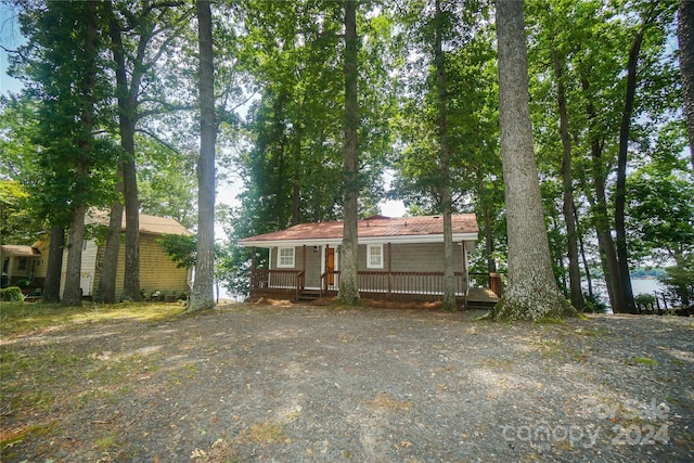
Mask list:
[[[678,9],[677,37],[680,43],[680,72],[684,115],[690,139],[690,157],[694,171],[694,1],[680,0]]]

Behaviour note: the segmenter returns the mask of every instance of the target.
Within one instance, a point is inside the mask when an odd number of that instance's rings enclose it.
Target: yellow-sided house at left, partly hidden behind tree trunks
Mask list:
[[[104,213],[93,213],[86,219],[88,226],[108,226],[108,215]],[[125,217],[121,230],[125,232]],[[188,269],[178,268],[171,261],[162,245],[156,240],[163,234],[190,235],[183,226],[174,219],[163,217],[140,215],[140,287],[145,295],[158,291],[162,296],[180,296],[189,291],[191,272]],[[49,239],[38,241],[34,247],[38,248],[44,260],[48,259]],[[65,271],[67,268],[67,253],[63,253],[63,266],[61,275],[61,295],[65,282]],[[94,239],[85,240],[82,245],[82,266],[80,273],[80,287],[83,296],[92,296],[99,288],[101,280],[101,269],[105,254],[105,243],[100,243]],[[47,266],[37,267],[35,278],[42,283],[46,279]],[[116,299],[123,295],[125,280],[125,246],[120,244],[118,254],[118,270],[116,276]]]

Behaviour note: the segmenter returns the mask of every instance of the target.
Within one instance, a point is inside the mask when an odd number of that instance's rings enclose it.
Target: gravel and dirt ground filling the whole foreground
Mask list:
[[[694,320],[231,305],[2,336],[3,462],[692,462]]]

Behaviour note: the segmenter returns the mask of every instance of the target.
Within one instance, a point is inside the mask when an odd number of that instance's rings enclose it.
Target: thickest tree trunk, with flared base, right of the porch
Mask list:
[[[523,2],[497,0],[499,113],[509,235],[509,287],[497,320],[558,319],[576,314],[560,292],[550,257],[532,151]]]

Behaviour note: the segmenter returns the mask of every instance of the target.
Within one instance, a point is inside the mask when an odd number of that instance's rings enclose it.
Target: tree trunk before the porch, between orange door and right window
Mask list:
[[[359,167],[357,131],[359,129],[359,41],[357,38],[357,0],[345,0],[345,146],[344,146],[344,228],[339,254],[339,300],[355,306],[360,304],[358,280],[358,195]]]

